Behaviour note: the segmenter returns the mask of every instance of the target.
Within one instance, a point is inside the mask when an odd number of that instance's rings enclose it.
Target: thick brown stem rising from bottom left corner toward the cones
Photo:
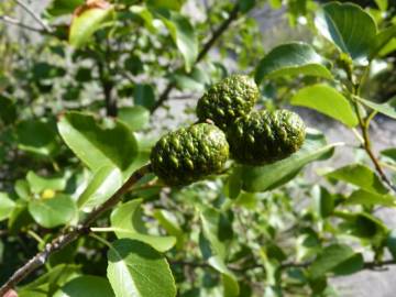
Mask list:
[[[21,268],[19,268],[0,288],[0,296],[3,296],[8,290],[13,288],[22,279],[24,279],[32,272],[44,265],[48,256],[65,248],[85,232],[89,231],[89,226],[100,217],[106,210],[116,206],[121,197],[145,174],[151,172],[151,165],[145,165],[140,169],[135,170],[129,179],[119,188],[105,204],[96,208],[89,216],[82,221],[81,224],[76,228],[70,228],[64,233],[59,234],[51,243],[45,245],[44,251],[37,253],[30,261],[28,261]]]

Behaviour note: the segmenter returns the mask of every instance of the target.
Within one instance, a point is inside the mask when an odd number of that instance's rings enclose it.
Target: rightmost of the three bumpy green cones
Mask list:
[[[279,161],[298,151],[305,140],[305,123],[288,110],[253,111],[228,130],[232,157],[245,165]]]

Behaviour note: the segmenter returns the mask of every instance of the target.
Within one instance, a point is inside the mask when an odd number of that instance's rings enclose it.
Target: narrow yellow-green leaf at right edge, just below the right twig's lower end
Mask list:
[[[391,195],[380,195],[363,189],[359,189],[353,191],[343,204],[360,205],[365,207],[372,207],[372,206],[396,207],[396,197],[393,197]]]

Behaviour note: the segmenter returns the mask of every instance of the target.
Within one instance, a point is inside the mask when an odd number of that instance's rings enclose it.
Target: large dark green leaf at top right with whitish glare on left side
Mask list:
[[[352,59],[367,58],[376,38],[376,23],[362,8],[352,3],[331,2],[317,13],[318,32]]]

